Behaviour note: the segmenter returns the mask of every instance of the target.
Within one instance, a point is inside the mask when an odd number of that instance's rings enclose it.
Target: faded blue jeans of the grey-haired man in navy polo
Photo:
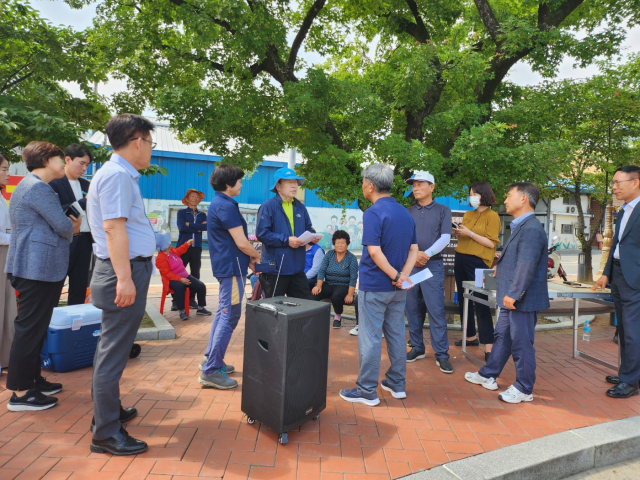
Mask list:
[[[378,398],[382,333],[387,341],[391,365],[385,374],[391,388],[404,391],[407,372],[407,343],[404,337],[406,290],[358,292],[358,353],[360,373],[356,386],[364,398]]]

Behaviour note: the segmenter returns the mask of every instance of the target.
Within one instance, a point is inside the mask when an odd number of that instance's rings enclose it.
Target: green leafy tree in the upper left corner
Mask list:
[[[83,33],[54,27],[29,5],[9,0],[0,8],[0,44],[0,151],[18,160],[12,149],[32,140],[64,148],[104,126],[109,112],[91,86],[106,76]],[[85,98],[60,82],[76,82]]]

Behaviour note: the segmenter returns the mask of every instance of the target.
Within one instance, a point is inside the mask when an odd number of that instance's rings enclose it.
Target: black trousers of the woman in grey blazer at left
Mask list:
[[[18,316],[9,354],[7,390],[29,390],[40,378],[40,352],[63,285],[64,280],[11,279],[11,286],[18,291]]]

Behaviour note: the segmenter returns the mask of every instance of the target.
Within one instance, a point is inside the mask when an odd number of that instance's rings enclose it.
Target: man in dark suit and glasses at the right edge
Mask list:
[[[618,213],[618,226],[603,275],[591,288],[611,284],[611,296],[618,316],[620,367],[618,376],[607,376],[615,384],[607,390],[612,398],[638,395],[640,381],[640,167],[628,165],[616,170],[611,182],[613,194],[625,203]]]

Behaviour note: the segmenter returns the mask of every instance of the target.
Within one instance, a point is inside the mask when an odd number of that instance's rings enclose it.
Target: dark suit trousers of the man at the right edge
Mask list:
[[[634,385],[640,381],[640,290],[624,279],[622,268],[611,266],[611,297],[618,315],[620,343],[620,381]],[[11,365],[11,364],[9,364]]]

